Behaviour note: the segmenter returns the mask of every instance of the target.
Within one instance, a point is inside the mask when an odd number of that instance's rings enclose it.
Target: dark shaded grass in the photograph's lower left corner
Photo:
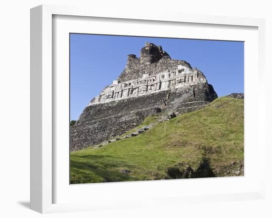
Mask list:
[[[130,174],[126,172],[132,172],[133,167],[111,155],[71,155],[70,182],[75,184],[132,181]]]

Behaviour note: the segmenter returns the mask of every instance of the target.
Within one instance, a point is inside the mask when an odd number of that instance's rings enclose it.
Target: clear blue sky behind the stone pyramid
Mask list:
[[[144,43],[161,45],[173,59],[201,70],[218,96],[244,92],[244,43],[177,38],[70,34],[70,118],[124,70]]]

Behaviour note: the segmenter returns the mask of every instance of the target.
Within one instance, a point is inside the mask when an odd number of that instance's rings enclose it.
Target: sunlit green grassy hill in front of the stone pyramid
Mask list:
[[[70,182],[242,176],[243,143],[244,102],[222,97],[136,137],[71,152]]]

